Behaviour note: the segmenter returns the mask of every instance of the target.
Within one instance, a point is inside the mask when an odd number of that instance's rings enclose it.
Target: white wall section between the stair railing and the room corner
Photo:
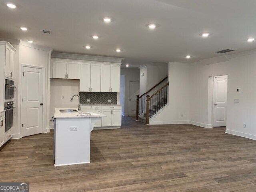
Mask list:
[[[168,104],[150,119],[150,124],[186,124],[189,112],[190,66],[170,62]]]

